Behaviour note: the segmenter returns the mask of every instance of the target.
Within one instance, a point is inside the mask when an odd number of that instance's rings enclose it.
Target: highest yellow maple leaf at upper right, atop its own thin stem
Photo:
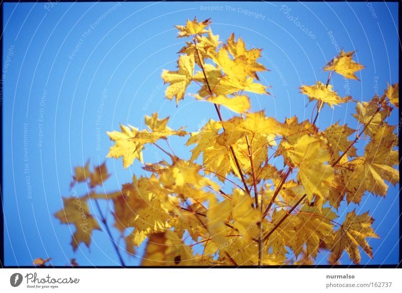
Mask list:
[[[362,70],[365,66],[352,60],[354,53],[355,51],[345,52],[342,49],[337,57],[328,62],[324,70],[333,70],[345,78],[359,80],[354,73]]]

